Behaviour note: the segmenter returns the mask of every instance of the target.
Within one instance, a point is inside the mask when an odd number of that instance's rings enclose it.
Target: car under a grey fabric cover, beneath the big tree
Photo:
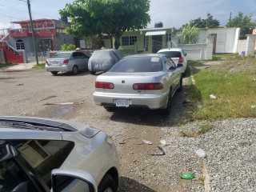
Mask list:
[[[91,74],[109,70],[116,62],[123,58],[120,50],[95,50],[88,62]]]

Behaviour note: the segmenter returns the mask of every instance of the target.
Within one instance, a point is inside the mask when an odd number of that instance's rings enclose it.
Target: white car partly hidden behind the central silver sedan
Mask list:
[[[186,59],[186,53],[182,49],[170,48],[170,49],[158,50],[158,54],[167,54],[170,58],[172,58],[172,60],[175,62],[176,65],[178,65],[178,63],[181,63],[182,74],[185,73],[187,59]]]

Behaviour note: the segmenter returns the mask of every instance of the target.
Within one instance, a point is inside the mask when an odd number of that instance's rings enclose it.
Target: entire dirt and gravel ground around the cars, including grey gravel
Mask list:
[[[168,117],[150,110],[109,113],[95,106],[95,78],[89,72],[52,76],[41,70],[2,70],[0,115],[64,118],[105,130],[120,155],[119,191],[256,191],[256,118],[210,122],[209,132],[186,138],[184,127],[200,126],[189,122],[186,78]],[[206,158],[198,157],[198,149]],[[186,172],[195,178],[180,178]]]

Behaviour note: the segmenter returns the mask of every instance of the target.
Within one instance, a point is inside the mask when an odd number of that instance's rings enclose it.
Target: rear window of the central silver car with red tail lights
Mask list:
[[[141,73],[162,70],[162,61],[158,57],[127,57],[117,62],[109,72]]]

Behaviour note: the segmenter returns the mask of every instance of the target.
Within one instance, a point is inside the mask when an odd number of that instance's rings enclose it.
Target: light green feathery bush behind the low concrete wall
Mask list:
[[[198,28],[194,25],[192,26],[191,23],[188,23],[182,29],[182,35],[178,37],[179,41],[182,44],[194,44],[198,42]]]

